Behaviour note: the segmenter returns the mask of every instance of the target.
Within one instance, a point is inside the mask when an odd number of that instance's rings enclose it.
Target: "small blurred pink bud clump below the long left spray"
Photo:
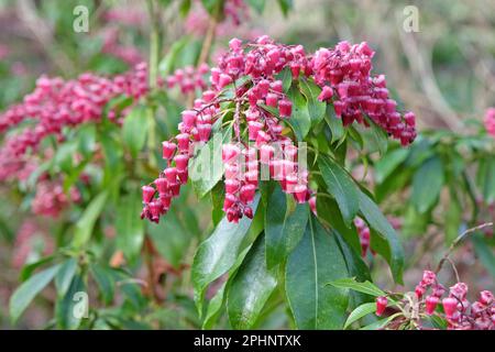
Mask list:
[[[78,201],[80,194],[76,187],[72,187],[67,195],[62,183],[45,179],[36,184],[36,194],[31,207],[35,215],[57,218],[69,202]]]

